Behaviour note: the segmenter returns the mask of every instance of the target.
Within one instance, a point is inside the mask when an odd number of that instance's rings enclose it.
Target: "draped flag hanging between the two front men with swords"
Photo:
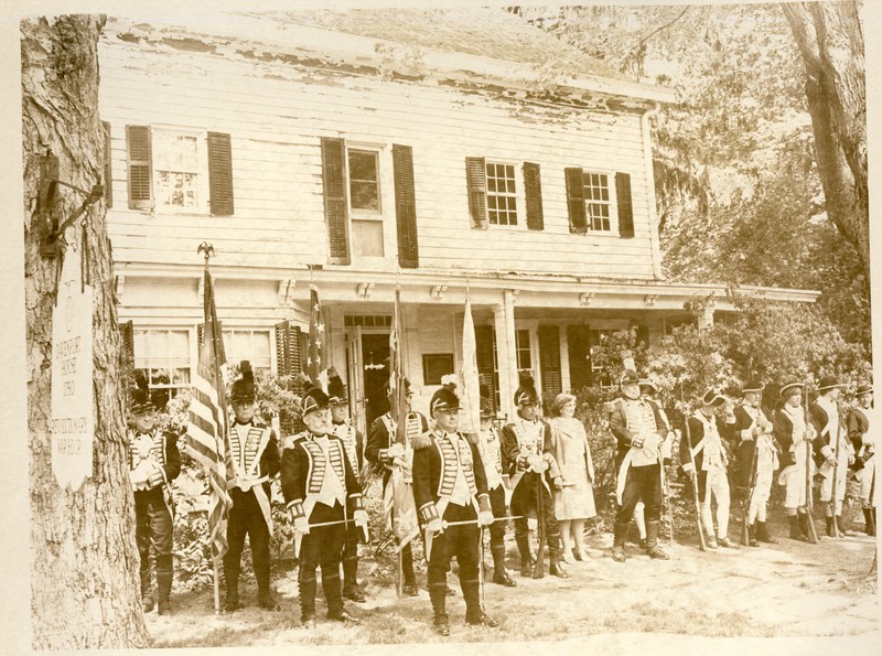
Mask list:
[[[392,326],[389,334],[389,416],[395,422],[395,441],[407,447],[406,452],[412,454],[407,445],[407,390],[405,389],[404,348],[401,345],[401,292],[395,290],[395,309]],[[408,456],[408,469],[412,456]],[[396,540],[396,549],[400,551],[410,540],[419,535],[417,504],[413,501],[413,486],[407,482],[409,475],[405,467],[395,466],[383,494],[383,505],[388,528]],[[400,573],[400,572],[399,572]]]

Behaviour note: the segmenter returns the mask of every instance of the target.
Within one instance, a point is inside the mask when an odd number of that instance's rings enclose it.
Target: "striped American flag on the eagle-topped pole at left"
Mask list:
[[[227,515],[233,501],[227,475],[233,472],[227,434],[227,399],[224,386],[224,340],[217,321],[214,288],[205,267],[205,334],[193,380],[185,449],[208,477],[208,535],[212,557],[219,562],[227,552]]]

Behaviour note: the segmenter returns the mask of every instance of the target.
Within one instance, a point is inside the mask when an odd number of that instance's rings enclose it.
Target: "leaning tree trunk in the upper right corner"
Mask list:
[[[867,83],[863,32],[856,2],[783,3],[806,67],[827,214],[858,251],[870,280],[867,195]]]

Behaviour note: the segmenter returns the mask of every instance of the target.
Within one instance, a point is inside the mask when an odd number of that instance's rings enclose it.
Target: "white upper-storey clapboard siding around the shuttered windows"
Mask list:
[[[108,225],[119,262],[198,264],[196,245],[209,239],[218,265],[327,264],[320,138],[342,137],[381,146],[381,166],[389,170],[394,142],[413,148],[421,269],[653,278],[637,115],[526,106],[238,55],[160,52],[112,34],[103,39],[100,57],[100,111],[110,122],[114,171]],[[235,214],[129,209],[126,125],[229,133]],[[466,157],[517,164],[517,227],[471,227]],[[542,230],[526,226],[524,161],[540,164]],[[631,175],[633,238],[617,230],[570,233],[566,166],[607,171],[611,186],[616,171]],[[394,190],[383,193],[385,229],[394,235]],[[388,268],[392,256],[353,268]]]

